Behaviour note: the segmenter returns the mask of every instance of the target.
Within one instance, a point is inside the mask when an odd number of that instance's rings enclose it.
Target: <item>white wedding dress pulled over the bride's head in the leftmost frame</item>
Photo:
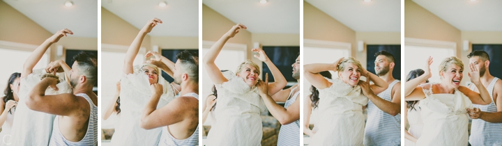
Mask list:
[[[13,127],[10,133],[10,145],[48,145],[52,133],[54,117],[49,113],[33,111],[26,106],[26,98],[43,74],[47,74],[45,69],[33,70],[33,73],[24,77],[20,81],[19,102],[15,111]],[[47,88],[45,95],[56,95],[71,93],[72,89],[68,82],[64,81],[64,74],[58,73],[59,80],[56,86],[59,90]]]

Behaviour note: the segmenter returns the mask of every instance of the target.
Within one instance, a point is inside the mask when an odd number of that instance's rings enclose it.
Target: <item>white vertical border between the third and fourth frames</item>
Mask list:
[[[300,83],[298,83],[298,86],[300,86],[300,145],[303,145],[303,99],[304,97],[304,92],[303,89],[306,87],[303,87],[303,0],[300,0]],[[298,97],[297,97],[298,98]]]

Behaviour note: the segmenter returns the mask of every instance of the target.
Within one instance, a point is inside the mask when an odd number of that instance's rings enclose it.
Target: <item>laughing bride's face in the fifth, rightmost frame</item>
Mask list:
[[[446,67],[446,71],[441,72],[442,83],[446,83],[453,88],[458,88],[460,86],[460,81],[464,75],[462,74],[464,70],[459,65],[450,64]]]

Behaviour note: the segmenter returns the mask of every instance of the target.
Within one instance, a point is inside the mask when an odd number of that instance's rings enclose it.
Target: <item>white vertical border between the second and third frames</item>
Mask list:
[[[202,71],[202,67],[200,65],[200,60],[203,60],[204,59],[204,54],[202,54],[202,0],[198,0],[199,1],[199,95],[202,93],[202,85],[204,85],[203,83],[203,79],[202,79],[202,74],[203,74],[203,71]],[[202,136],[204,134],[202,134],[204,132],[204,123],[202,123],[202,113],[204,113],[202,111],[202,107],[204,107],[203,105],[205,104],[204,103],[204,100],[200,100],[200,99],[204,99],[204,98],[199,98],[199,145],[204,145],[204,143],[202,143]]]

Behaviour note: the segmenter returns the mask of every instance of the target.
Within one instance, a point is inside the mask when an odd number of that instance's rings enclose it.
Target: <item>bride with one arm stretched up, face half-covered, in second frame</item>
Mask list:
[[[162,131],[161,128],[146,130],[139,127],[142,109],[147,102],[149,102],[152,94],[150,85],[152,83],[159,83],[164,88],[163,94],[160,97],[160,102],[157,105],[158,108],[165,106],[174,99],[174,95],[177,94],[177,91],[175,91],[176,88],[169,85],[169,83],[159,75],[160,70],[156,65],[151,63],[132,65],[146,33],[149,33],[158,23],[162,23],[162,21],[157,18],[151,19],[143,29],[139,31],[126,53],[123,65],[124,74],[120,83],[121,116],[119,117],[119,125],[116,127],[114,135],[112,136],[112,145],[158,145],[158,140],[160,139],[160,133]],[[174,63],[172,63],[172,65],[174,65]],[[167,72],[167,74],[172,75],[171,70],[167,68],[162,69],[164,69],[164,72]]]

